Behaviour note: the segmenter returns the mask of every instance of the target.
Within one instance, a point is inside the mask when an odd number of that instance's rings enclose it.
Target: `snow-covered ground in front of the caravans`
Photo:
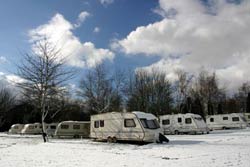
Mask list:
[[[139,146],[0,133],[0,167],[250,167],[250,129],[167,137]]]

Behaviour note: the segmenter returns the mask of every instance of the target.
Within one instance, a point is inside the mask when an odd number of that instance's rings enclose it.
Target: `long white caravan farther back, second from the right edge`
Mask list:
[[[207,125],[211,130],[246,128],[247,122],[242,113],[208,115]]]

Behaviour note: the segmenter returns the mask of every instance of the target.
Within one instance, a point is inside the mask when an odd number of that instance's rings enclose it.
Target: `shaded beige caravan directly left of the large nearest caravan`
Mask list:
[[[63,121],[58,124],[55,136],[60,137],[70,137],[88,138],[90,132],[90,122],[87,121]]]

